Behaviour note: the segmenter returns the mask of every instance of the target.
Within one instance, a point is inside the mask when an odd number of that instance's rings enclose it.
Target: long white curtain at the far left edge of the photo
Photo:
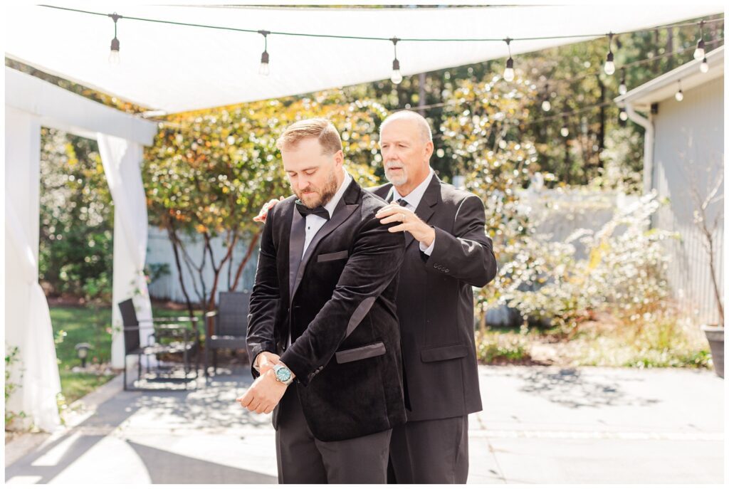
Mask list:
[[[18,348],[9,367],[17,389],[5,409],[25,413],[18,424],[26,428],[54,431],[61,426],[61,380],[48,302],[38,283],[40,137],[37,116],[5,106],[4,343],[7,352]]]

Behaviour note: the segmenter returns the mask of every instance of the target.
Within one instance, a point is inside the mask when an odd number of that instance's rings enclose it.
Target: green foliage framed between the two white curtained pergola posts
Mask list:
[[[111,299],[114,213],[96,141],[41,132],[39,278],[52,294]]]

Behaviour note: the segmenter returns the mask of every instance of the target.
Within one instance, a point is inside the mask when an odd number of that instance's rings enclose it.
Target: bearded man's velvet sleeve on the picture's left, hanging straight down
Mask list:
[[[273,243],[274,212],[268,213],[263,226],[261,246],[256,267],[256,279],[248,314],[247,346],[251,361],[253,377],[259,373],[253,368],[253,362],[262,351],[276,353],[276,340],[273,328],[276,321],[276,309],[281,299],[278,288],[278,272],[276,270],[276,247]],[[272,219],[273,218],[273,219]]]

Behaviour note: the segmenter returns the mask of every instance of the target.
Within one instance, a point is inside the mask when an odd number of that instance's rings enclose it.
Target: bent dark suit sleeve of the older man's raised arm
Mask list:
[[[461,200],[453,223],[453,234],[439,227],[435,246],[426,259],[426,270],[449,275],[483,287],[496,276],[496,256],[491,238],[486,236],[486,211],[476,195]]]

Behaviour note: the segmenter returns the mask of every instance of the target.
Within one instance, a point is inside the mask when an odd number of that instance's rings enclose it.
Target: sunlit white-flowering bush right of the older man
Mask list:
[[[576,230],[564,243],[537,234],[512,240],[502,250],[509,261],[499,268],[496,302],[565,333],[598,310],[623,319],[650,314],[668,294],[661,241],[676,236],[648,229],[659,206],[655,193],[646,195],[599,230]],[[588,250],[585,259],[575,257],[578,240]]]

